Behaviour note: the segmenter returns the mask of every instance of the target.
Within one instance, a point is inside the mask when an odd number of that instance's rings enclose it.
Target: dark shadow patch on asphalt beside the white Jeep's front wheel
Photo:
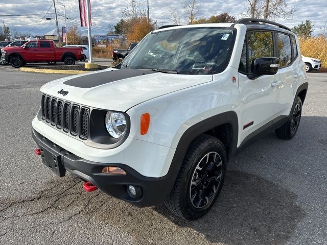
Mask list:
[[[295,204],[296,195],[263,178],[228,171],[215,206],[194,222],[170,217],[181,227],[191,227],[210,242],[227,244],[282,244],[305,216]],[[157,207],[169,217],[165,207]]]

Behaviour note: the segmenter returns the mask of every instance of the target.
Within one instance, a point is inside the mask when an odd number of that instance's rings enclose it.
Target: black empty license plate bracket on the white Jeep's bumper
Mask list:
[[[44,148],[40,148],[40,150],[43,164],[48,166],[59,177],[64,177],[66,169],[61,161],[61,156],[55,155]]]

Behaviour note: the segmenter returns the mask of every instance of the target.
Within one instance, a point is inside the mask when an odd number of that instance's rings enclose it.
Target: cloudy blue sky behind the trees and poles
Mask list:
[[[59,28],[64,26],[64,7],[66,5],[67,25],[80,23],[78,0],[55,0],[58,13]],[[1,0],[0,21],[5,21],[6,26],[18,32],[30,32],[36,35],[43,35],[55,26],[54,7],[52,0]],[[246,0],[200,0],[200,17],[209,17],[223,12],[240,18],[245,13]],[[297,12],[292,20],[277,19],[277,22],[293,27],[306,19],[315,23],[315,34],[323,28],[327,21],[327,1],[313,0],[286,0],[289,6],[297,6]],[[91,0],[92,23],[94,27],[92,34],[105,34],[123,16],[122,12],[128,7],[129,0]],[[138,3],[146,8],[146,1],[139,0]],[[149,0],[150,18],[157,20],[158,26],[170,24],[172,9],[180,10],[183,15],[182,1],[172,0]],[[46,13],[49,10],[48,13]],[[44,19],[42,19],[44,17]],[[45,18],[51,18],[46,20]],[[182,17],[182,23],[186,23],[186,18]],[[2,23],[1,23],[2,24]],[[3,24],[2,24],[3,26]],[[83,32],[86,35],[86,32]]]

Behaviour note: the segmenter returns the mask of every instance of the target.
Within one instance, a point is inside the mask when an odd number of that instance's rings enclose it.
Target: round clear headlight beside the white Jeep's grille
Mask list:
[[[126,133],[126,118],[122,112],[108,111],[105,124],[108,133],[115,139],[122,138]]]

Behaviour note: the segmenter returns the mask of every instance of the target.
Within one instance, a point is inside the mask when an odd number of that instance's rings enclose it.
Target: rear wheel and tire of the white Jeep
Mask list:
[[[295,136],[298,126],[300,125],[301,113],[302,101],[300,97],[297,96],[288,121],[285,122],[282,127],[275,129],[275,133],[278,138],[291,139]]]

